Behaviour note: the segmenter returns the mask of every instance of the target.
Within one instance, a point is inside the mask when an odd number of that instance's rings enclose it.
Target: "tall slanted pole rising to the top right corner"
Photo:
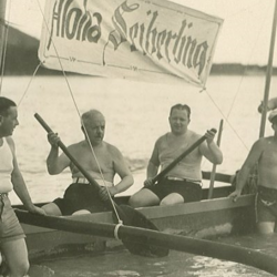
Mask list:
[[[264,101],[263,101],[263,107],[264,109],[263,109],[261,120],[260,120],[259,137],[263,137],[265,135],[267,103],[268,103],[271,73],[273,73],[273,60],[274,60],[274,47],[275,47],[275,38],[276,38],[276,24],[277,24],[277,0],[275,0],[270,48],[269,48],[268,63],[267,63],[267,70],[266,70],[266,85],[265,85],[265,93],[264,93]]]

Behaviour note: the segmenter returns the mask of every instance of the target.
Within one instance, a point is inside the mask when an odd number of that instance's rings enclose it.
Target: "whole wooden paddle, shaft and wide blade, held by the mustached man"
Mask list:
[[[44,130],[50,133],[53,132],[51,127],[45,123],[45,121],[38,114],[34,114],[34,117],[39,121],[39,123],[44,127]],[[99,184],[92,178],[92,176],[80,165],[80,163],[71,155],[68,147],[62,143],[62,141],[59,141],[58,143],[59,147],[63,151],[63,153],[70,158],[70,161],[78,167],[78,170],[84,175],[84,177],[90,182],[90,184],[95,188],[96,192],[100,191]],[[120,218],[123,220],[123,223],[127,226],[135,226],[141,228],[147,228],[147,229],[154,229],[158,230],[157,227],[147,219],[142,213],[132,208],[127,205],[116,205],[116,203],[111,203],[112,199],[107,199],[104,202],[105,205],[109,206],[110,209],[114,212],[114,208],[116,209]],[[112,205],[113,204],[113,205]],[[114,208],[113,208],[114,207]],[[167,256],[168,249],[152,246],[148,244],[148,239],[141,239],[141,240],[134,240],[134,239],[122,239],[124,246],[133,254],[141,255],[141,256]]]

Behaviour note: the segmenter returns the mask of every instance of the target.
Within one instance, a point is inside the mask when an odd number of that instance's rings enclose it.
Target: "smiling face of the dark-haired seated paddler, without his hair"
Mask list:
[[[187,131],[189,117],[186,110],[173,109],[168,120],[173,134],[182,135]]]

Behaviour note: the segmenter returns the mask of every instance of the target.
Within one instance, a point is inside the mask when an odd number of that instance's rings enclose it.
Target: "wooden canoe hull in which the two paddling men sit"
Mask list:
[[[204,179],[209,178],[211,173],[204,172]],[[208,188],[203,189],[201,202],[174,205],[152,206],[137,208],[145,217],[153,222],[157,228],[166,234],[177,234],[196,238],[209,238],[213,236],[245,234],[254,229],[254,195],[243,195],[236,203],[227,196],[234,189],[230,184],[232,176],[216,174],[215,181],[225,183],[214,188],[213,198],[207,199]],[[117,204],[126,204],[129,197],[117,197]],[[43,203],[44,204],[44,203]],[[41,204],[42,205],[42,204]],[[18,205],[16,209],[23,207]],[[105,252],[113,247],[122,246],[120,240],[90,234],[78,234],[59,228],[45,228],[35,226],[35,220],[25,219],[18,213],[22,227],[27,235],[27,244],[31,260],[76,252]],[[89,222],[114,224],[112,212],[64,216],[62,218],[72,222]],[[28,222],[29,220],[29,222]]]

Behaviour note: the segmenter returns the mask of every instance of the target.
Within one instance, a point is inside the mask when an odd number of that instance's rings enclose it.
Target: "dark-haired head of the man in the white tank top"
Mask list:
[[[10,99],[0,96],[0,137],[12,135],[18,124],[17,104]]]

